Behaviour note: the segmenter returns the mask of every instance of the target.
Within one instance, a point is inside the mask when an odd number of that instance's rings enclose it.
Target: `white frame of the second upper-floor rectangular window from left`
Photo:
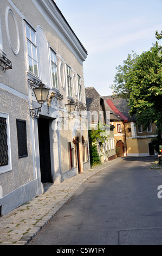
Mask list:
[[[51,84],[53,88],[56,88],[57,90],[59,90],[57,56],[55,51],[51,47],[49,47],[49,55],[50,55]],[[55,72],[53,72],[53,67]]]

